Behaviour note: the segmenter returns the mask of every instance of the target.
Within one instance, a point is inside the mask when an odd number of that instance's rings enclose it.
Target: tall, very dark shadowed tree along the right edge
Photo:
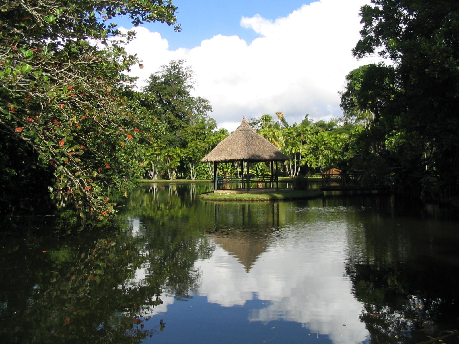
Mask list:
[[[396,184],[403,193],[409,184],[409,193],[419,196],[429,183],[448,201],[459,194],[459,3],[372,3],[361,8],[364,28],[353,54],[378,54],[394,65],[398,92],[383,104],[381,117],[392,147],[404,147],[392,154]],[[407,137],[419,138],[422,149],[407,145]]]

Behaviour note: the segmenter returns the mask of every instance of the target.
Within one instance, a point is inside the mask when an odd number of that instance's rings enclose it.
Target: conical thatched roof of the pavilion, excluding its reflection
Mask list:
[[[222,140],[202,162],[224,161],[284,161],[288,156],[283,154],[267,139],[258,135],[249,125],[246,117],[234,133]]]

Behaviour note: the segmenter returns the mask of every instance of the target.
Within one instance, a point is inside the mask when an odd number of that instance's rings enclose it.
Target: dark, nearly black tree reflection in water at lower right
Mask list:
[[[346,272],[372,343],[418,343],[457,329],[457,242],[445,239],[457,238],[455,225],[421,221],[369,216],[350,231]]]

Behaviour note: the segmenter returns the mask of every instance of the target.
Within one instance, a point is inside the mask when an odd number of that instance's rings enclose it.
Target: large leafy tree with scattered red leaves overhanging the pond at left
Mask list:
[[[14,154],[54,175],[46,186],[60,204],[107,215],[114,209],[106,191],[135,178],[124,148],[138,128],[122,90],[133,82],[123,72],[137,60],[122,41],[112,40],[129,41],[134,33],[122,35],[112,20],[128,16],[135,26],[172,25],[175,11],[171,1],[157,0],[0,5],[2,145],[17,142]]]

